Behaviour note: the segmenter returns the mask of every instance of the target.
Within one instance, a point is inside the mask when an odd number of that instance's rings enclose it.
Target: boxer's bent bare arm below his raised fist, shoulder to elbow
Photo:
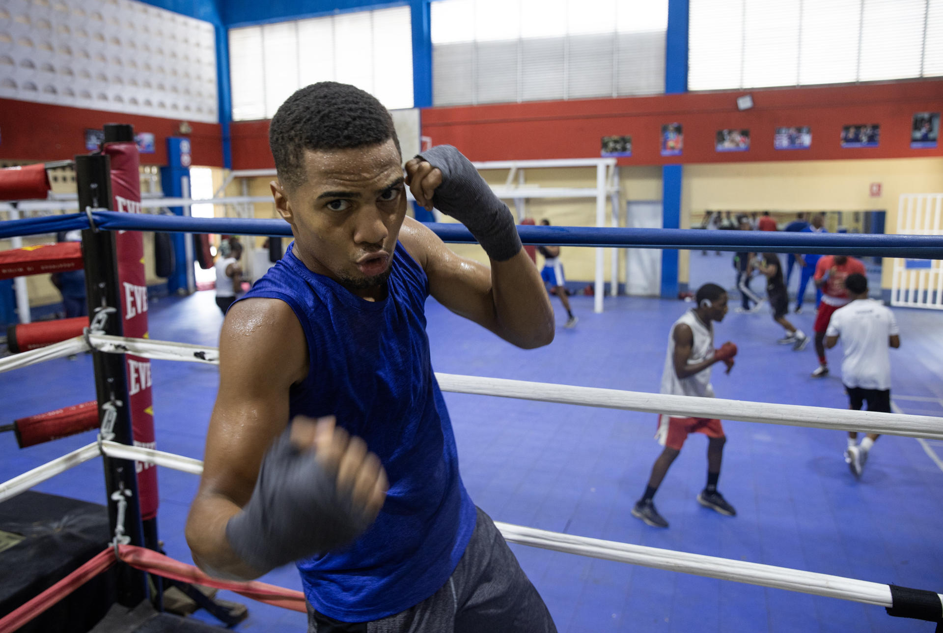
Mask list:
[[[537,267],[521,249],[491,268],[462,258],[428,227],[405,218],[400,241],[429,277],[429,292],[446,308],[531,349],[554,340],[554,308]]]

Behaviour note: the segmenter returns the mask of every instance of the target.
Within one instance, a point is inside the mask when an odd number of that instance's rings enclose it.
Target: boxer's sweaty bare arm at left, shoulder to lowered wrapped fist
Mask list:
[[[211,575],[260,573],[229,547],[226,523],[252,496],[262,458],[288,424],[290,387],[307,364],[305,333],[288,304],[256,298],[229,310],[203,476],[187,518],[193,560]]]

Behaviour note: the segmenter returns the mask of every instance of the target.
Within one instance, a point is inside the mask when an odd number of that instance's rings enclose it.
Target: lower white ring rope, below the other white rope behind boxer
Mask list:
[[[150,448],[128,446],[114,441],[102,441],[101,453],[109,458],[134,459],[192,475],[200,475],[203,472],[203,462],[199,459],[185,458]],[[98,455],[98,444],[92,443],[15,479],[10,479],[7,483],[0,485],[0,500],[13,496],[13,494],[21,492],[25,488],[29,488]],[[14,483],[19,490],[14,493],[7,493],[6,491],[11,490],[11,484]],[[761,587],[811,593],[830,598],[851,600],[866,605],[893,607],[890,587],[877,582],[846,578],[839,575],[805,572],[732,558],[689,554],[659,547],[590,539],[523,525],[511,525],[501,522],[495,522],[495,525],[501,530],[505,540],[521,543],[522,545],[590,558],[626,562],[670,572],[703,575],[709,578],[732,580]],[[943,595],[937,593],[937,597],[940,599],[940,608],[943,611]]]

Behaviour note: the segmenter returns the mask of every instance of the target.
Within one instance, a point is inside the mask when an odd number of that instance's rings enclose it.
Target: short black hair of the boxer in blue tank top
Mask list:
[[[305,181],[302,158],[306,149],[350,149],[396,143],[393,118],[376,97],[355,86],[322,81],[295,91],[272,117],[269,147],[283,185]]]

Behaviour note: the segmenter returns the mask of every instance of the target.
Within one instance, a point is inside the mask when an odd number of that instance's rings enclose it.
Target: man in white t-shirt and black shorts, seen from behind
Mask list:
[[[869,411],[890,413],[890,347],[901,346],[900,329],[894,313],[884,304],[868,297],[868,278],[852,273],[845,279],[848,305],[835,310],[825,333],[825,346],[835,347],[838,338],[845,358],[841,362],[841,381],[850,401],[849,408],[860,410],[868,401]],[[860,444],[858,434],[848,434],[845,461],[855,476],[861,476],[868,452],[879,436],[869,433]]]

